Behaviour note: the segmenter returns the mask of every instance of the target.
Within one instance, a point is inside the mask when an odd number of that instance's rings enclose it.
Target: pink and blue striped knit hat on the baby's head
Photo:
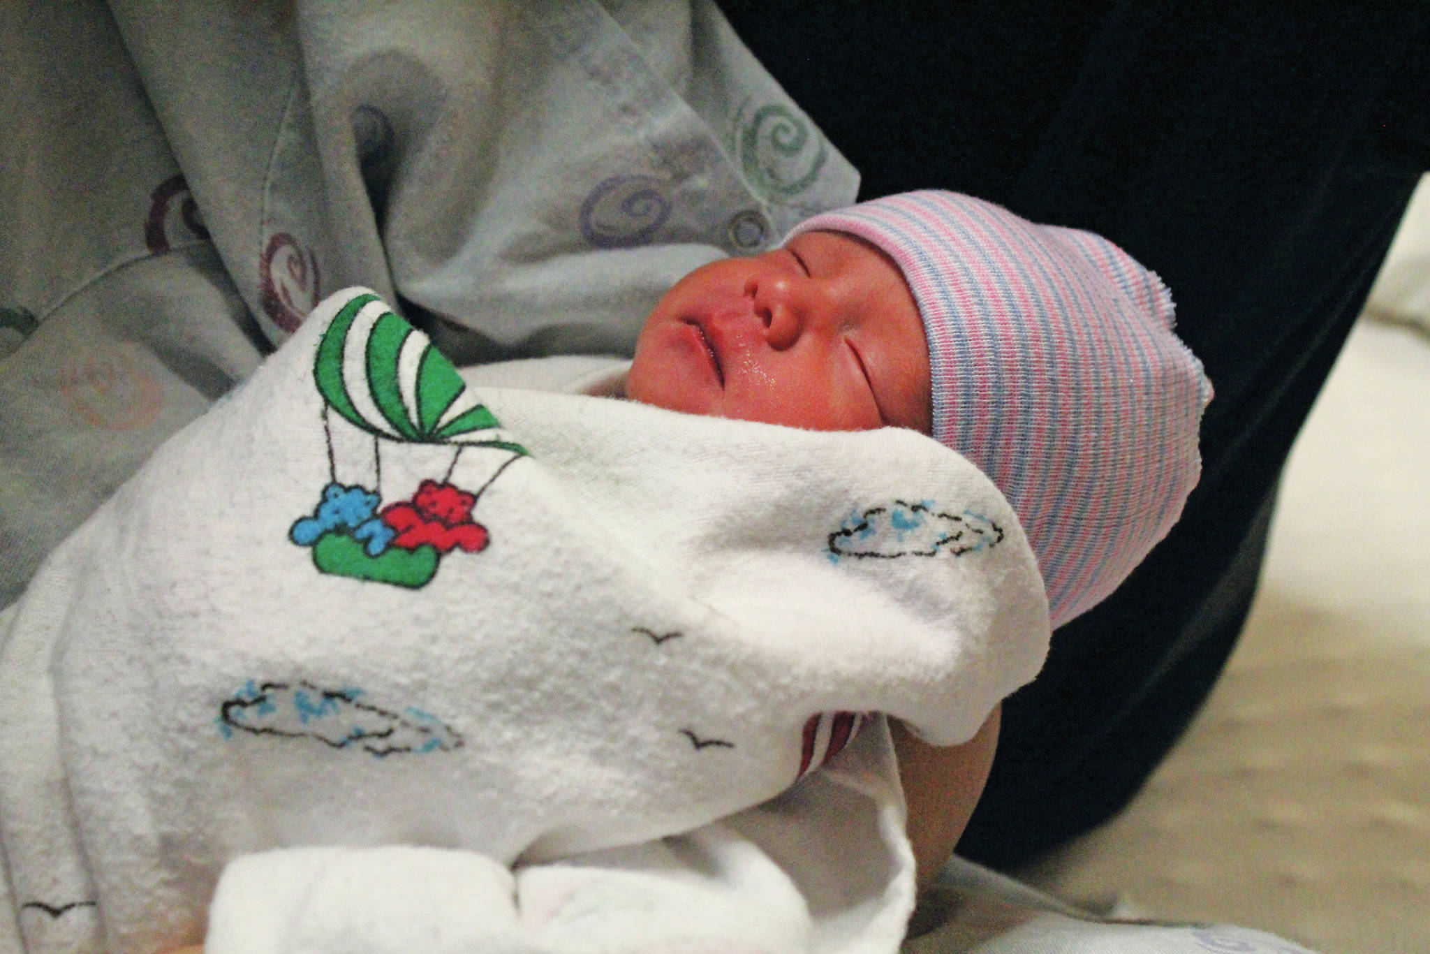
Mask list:
[[[1018,513],[1052,625],[1091,608],[1181,515],[1211,399],[1173,333],[1171,295],[1115,245],[952,192],[909,192],[801,222],[904,270],[924,316],[934,438]]]

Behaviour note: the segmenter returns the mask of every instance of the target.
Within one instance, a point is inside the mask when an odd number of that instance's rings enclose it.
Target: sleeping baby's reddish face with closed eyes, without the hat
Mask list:
[[[914,295],[884,252],[842,232],[676,282],[641,329],[626,396],[814,431],[932,431]]]

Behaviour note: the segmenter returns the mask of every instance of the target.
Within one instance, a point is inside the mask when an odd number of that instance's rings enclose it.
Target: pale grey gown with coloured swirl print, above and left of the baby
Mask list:
[[[0,605],[320,297],[629,352],[858,174],[706,1],[4,4]]]

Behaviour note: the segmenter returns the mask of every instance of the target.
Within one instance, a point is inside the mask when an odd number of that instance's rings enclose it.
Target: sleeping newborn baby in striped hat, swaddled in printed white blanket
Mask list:
[[[488,410],[376,296],[335,299],[4,619],[0,835],[33,951],[192,940],[225,865],[267,852],[276,885],[287,845],[459,850],[511,905],[516,860],[729,817],[867,712],[975,739],[948,812],[948,749],[902,737],[931,868],[1048,614],[1180,512],[1210,396],[1154,276],[952,193],[686,276],[625,379],[656,408]],[[325,482],[362,512],[303,516]],[[375,515],[393,486],[419,489]],[[436,523],[442,549],[403,544]]]

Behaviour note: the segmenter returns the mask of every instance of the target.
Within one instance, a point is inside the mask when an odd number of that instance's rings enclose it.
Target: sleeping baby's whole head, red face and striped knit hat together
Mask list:
[[[1171,329],[1165,286],[1111,242],[914,192],[681,279],[641,332],[626,395],[932,435],[1008,498],[1061,625],[1131,572],[1197,482],[1211,385]]]

